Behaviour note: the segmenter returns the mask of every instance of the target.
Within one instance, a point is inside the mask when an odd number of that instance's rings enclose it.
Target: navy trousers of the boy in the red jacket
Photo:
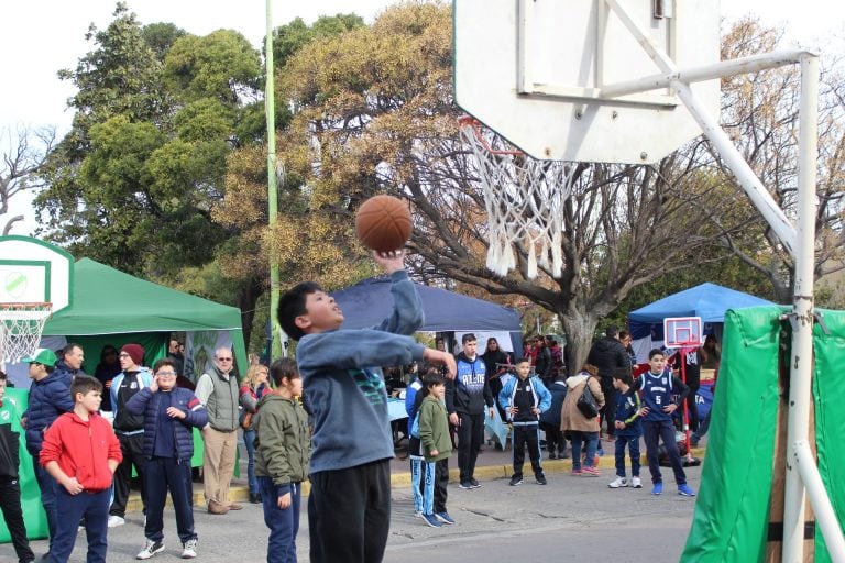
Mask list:
[[[111,487],[99,493],[83,490],[72,495],[64,487],[56,495],[56,538],[50,549],[50,563],[65,563],[76,543],[79,520],[85,517],[85,536],[88,540],[87,563],[106,563],[108,544],[106,533],[109,521]],[[51,538],[52,539],[52,538]]]

